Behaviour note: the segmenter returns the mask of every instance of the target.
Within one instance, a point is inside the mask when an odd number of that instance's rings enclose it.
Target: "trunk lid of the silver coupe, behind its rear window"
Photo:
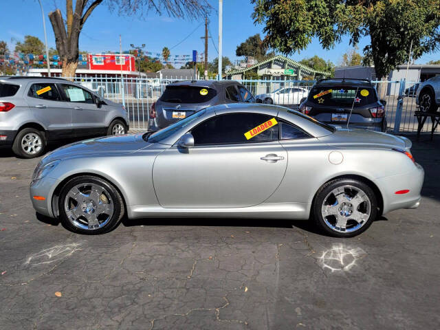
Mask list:
[[[319,137],[319,140],[331,146],[357,147],[370,146],[371,148],[400,148],[409,150],[412,146],[407,137],[391,135],[368,129],[338,129],[331,135]]]

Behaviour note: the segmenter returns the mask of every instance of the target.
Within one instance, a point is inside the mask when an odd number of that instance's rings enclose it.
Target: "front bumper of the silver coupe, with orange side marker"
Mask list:
[[[30,183],[30,199],[32,206],[36,212],[44,214],[47,217],[56,218],[57,214],[54,214],[52,208],[52,196],[56,186],[61,181],[52,177],[45,176],[37,181]],[[34,196],[44,197],[44,200],[34,199]]]

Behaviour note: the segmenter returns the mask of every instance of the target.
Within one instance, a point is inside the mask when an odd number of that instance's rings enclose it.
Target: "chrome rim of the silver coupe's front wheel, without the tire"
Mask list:
[[[114,206],[109,192],[98,184],[78,184],[65,197],[64,210],[78,228],[96,230],[110,221]]]

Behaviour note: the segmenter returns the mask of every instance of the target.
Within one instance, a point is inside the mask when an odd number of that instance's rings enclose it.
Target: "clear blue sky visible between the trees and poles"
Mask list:
[[[65,12],[65,0],[41,0],[45,10],[47,41],[49,47],[55,48],[55,37],[47,14],[55,8]],[[189,21],[157,15],[149,12],[144,19],[134,14],[131,17],[118,16],[117,8],[109,10],[105,4],[98,7],[91,14],[83,31],[80,34],[79,47],[91,53],[119,51],[119,36],[122,36],[122,50],[129,50],[130,44],[146,45],[147,52],[162,52],[163,47],[170,48],[171,55],[192,54],[197,50],[199,54],[204,51],[204,17]],[[27,34],[38,36],[44,42],[41,9],[37,0],[0,0],[2,18],[0,21],[0,40],[6,41],[10,50],[14,50],[17,41],[23,41]],[[208,59],[218,56],[219,17],[218,2],[210,0],[212,10],[208,18],[209,30],[212,39],[208,45]],[[57,7],[58,6],[58,7]],[[263,25],[255,25],[251,17],[253,5],[249,0],[223,0],[223,56],[228,56],[231,61],[242,59],[235,55],[236,46],[245,41],[249,36],[260,33],[263,38]],[[5,14],[7,13],[7,14]],[[361,39],[359,49],[369,43],[369,39]],[[215,47],[214,47],[215,44]],[[336,65],[340,63],[342,54],[349,49],[349,37],[342,39],[333,50],[323,50],[318,39],[313,39],[309,47],[302,52],[289,54],[290,58],[300,61],[318,55],[326,61]],[[426,54],[417,59],[416,63],[427,63],[439,60],[440,52]]]

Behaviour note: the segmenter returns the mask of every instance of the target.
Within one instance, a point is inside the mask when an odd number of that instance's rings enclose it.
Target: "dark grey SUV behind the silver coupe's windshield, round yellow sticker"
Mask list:
[[[234,80],[192,80],[166,85],[159,100],[151,105],[150,129],[164,127],[217,104],[256,102],[251,92]]]

